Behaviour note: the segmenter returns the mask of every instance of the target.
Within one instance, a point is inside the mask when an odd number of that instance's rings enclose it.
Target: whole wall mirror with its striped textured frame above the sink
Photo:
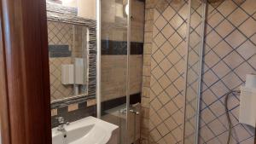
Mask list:
[[[46,3],[51,108],[96,98],[96,20]]]

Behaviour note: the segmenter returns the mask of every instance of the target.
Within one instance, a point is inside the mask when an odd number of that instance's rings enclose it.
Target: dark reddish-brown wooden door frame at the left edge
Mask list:
[[[51,143],[46,20],[45,0],[0,1],[2,144]]]

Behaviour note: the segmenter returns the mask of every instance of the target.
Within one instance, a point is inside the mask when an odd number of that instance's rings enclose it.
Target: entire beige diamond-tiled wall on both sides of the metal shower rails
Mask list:
[[[226,142],[228,127],[224,115],[224,94],[230,89],[239,89],[244,83],[245,75],[256,72],[254,1],[225,0],[222,3],[208,4],[201,82],[200,143]],[[152,30],[145,31],[144,49],[147,51],[144,52],[143,68],[142,138],[148,138],[149,143],[179,143],[183,138],[180,123],[183,121],[180,117],[183,115],[183,89],[180,84],[185,67],[183,52],[187,49],[184,43],[184,20],[188,13],[186,6],[188,5],[185,1],[146,1],[146,23],[150,21],[153,27]],[[199,66],[198,49],[201,40],[201,30],[198,28],[201,25],[200,3],[192,3],[192,8],[187,89],[191,95],[186,100],[186,135],[194,136],[187,137],[189,141],[195,141],[195,82],[198,78],[196,70]],[[147,16],[147,11],[151,16]],[[150,62],[148,55],[151,55]],[[146,72],[149,69],[150,74]],[[229,109],[233,124],[231,143],[253,144],[254,130],[238,122],[238,95],[230,98]]]

